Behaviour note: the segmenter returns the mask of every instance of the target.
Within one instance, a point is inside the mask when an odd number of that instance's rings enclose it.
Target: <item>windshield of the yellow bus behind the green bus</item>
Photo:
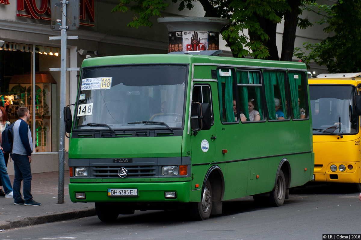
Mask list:
[[[356,133],[358,117],[352,114],[355,86],[309,85],[313,134]]]

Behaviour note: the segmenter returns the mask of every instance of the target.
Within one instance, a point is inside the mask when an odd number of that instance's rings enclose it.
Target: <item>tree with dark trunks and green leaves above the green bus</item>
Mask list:
[[[193,1],[179,2],[179,11],[192,9]],[[314,0],[199,0],[205,17],[230,19],[221,34],[230,47],[234,57],[252,56],[258,59],[291,61],[296,38],[297,26],[305,28],[312,24],[307,18],[301,19],[303,7]],[[130,8],[128,6],[131,5]],[[135,14],[129,27],[153,25],[151,17],[161,17],[169,2],[165,0],[120,0],[112,12]],[[279,58],[276,46],[276,27],[284,18],[282,53]],[[248,30],[245,32],[245,30]]]

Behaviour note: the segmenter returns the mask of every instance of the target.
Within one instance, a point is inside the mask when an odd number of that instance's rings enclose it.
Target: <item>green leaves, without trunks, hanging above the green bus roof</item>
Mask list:
[[[179,11],[193,8],[193,2],[197,0],[171,0],[179,3]],[[260,19],[266,19],[273,23],[280,23],[286,11],[290,9],[288,1],[294,0],[200,0],[206,12],[205,17],[220,17],[230,19],[230,24],[222,29],[223,39],[226,46],[230,47],[232,54],[238,57],[252,56],[254,58],[267,58],[270,56],[269,49],[264,46],[264,42],[269,40],[268,34],[261,27]],[[314,0],[302,0],[304,3]],[[153,23],[149,20],[153,16],[161,17],[169,3],[166,0],[120,0],[113,12],[128,11],[130,6],[134,19],[127,26],[151,27]],[[298,13],[302,11],[298,9]],[[299,27],[306,28],[312,26],[308,19],[299,18]],[[248,33],[244,30],[248,29]],[[251,37],[250,37],[251,36]],[[249,49],[249,50],[248,50]]]

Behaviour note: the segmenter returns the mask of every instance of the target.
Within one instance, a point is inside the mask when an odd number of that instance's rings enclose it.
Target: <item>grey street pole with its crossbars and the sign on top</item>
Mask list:
[[[70,13],[67,15],[67,4]],[[51,28],[53,31],[61,31],[60,37],[49,37],[49,40],[61,40],[60,68],[50,68],[50,71],[60,71],[60,129],[59,129],[59,170],[58,170],[58,203],[64,203],[64,164],[65,164],[65,124],[64,111],[66,97],[66,71],[79,71],[80,68],[66,67],[66,40],[78,39],[78,36],[67,36],[66,30],[79,28],[79,1],[75,0],[51,0]],[[60,13],[60,14],[59,14]],[[53,15],[54,14],[54,15]],[[60,18],[61,17],[61,18]],[[70,22],[73,21],[73,22]],[[69,26],[67,26],[67,23]]]

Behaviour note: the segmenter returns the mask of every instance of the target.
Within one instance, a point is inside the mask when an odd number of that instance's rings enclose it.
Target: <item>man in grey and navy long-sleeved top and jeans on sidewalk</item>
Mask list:
[[[14,161],[14,185],[13,185],[13,198],[14,205],[25,206],[40,206],[32,199],[31,195],[31,153],[32,153],[32,139],[31,132],[27,121],[30,119],[30,112],[27,107],[19,107],[18,117],[20,118],[14,123],[14,141],[13,151],[11,158]],[[23,181],[24,199],[21,197],[20,187]]]

